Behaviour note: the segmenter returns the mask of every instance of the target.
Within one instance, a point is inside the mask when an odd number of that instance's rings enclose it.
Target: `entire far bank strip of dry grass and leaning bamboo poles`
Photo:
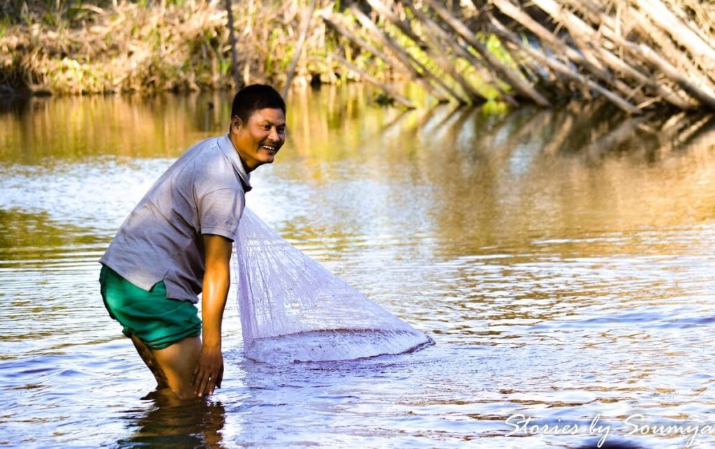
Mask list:
[[[578,98],[631,115],[715,110],[712,1],[224,2],[82,4],[87,20],[73,26],[12,25],[0,35],[0,92],[287,89],[357,77],[403,107],[415,99],[395,81],[458,104]]]

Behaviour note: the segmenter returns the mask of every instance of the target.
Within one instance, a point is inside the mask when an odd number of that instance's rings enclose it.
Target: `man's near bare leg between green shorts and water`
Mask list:
[[[201,337],[187,337],[164,349],[152,349],[169,388],[182,399],[195,398],[191,378],[201,352]]]

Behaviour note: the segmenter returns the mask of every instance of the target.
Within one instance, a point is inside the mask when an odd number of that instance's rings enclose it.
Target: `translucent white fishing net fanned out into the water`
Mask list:
[[[248,208],[235,247],[244,351],[252,360],[352,360],[433,342],[290,245]]]

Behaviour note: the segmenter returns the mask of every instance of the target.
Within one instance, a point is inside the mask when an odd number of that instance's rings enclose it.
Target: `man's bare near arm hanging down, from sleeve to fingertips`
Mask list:
[[[223,354],[221,322],[231,280],[232,242],[220,235],[204,235],[204,285],[202,293],[203,339],[192,384],[199,396],[211,395],[221,388]]]

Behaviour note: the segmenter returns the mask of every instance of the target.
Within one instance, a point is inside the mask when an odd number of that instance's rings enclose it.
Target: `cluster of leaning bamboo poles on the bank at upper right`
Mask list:
[[[373,11],[373,19],[366,10]],[[663,106],[715,109],[715,5],[694,0],[473,0],[473,8],[448,9],[438,0],[364,0],[350,11],[360,24],[352,33],[389,48],[414,77],[442,80],[436,87],[458,102],[483,98],[458,69],[468,66],[490,74],[480,82],[492,84],[497,99],[512,104],[549,107],[574,97],[600,97],[631,115]],[[488,49],[488,36],[496,36],[508,56]],[[396,47],[405,40],[412,44],[410,54]],[[370,53],[358,45],[360,51]],[[414,53],[435,62],[436,77]]]

